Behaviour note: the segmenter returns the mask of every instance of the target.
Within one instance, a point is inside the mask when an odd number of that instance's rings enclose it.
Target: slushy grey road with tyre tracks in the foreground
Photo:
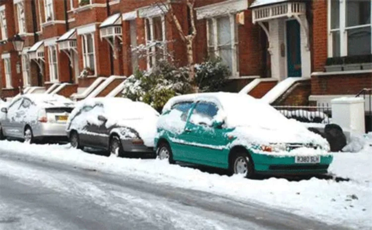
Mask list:
[[[324,229],[210,193],[1,154],[0,229]]]

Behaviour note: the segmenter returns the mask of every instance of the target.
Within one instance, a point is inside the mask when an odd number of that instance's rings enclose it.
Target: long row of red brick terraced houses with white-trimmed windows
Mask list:
[[[75,99],[116,95],[125,76],[156,65],[155,43],[186,65],[169,3],[159,2],[0,1],[1,96],[19,86]],[[171,4],[188,33],[185,1]],[[372,85],[370,0],[196,0],[194,16],[194,60],[221,57],[232,73],[228,90],[308,104]],[[21,54],[7,41],[15,34],[25,40]],[[140,45],[143,57],[132,51]]]

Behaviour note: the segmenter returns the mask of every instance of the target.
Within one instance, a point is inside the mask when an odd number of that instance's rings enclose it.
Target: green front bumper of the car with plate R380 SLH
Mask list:
[[[257,174],[313,175],[327,173],[333,156],[322,155],[319,163],[296,163],[295,156],[266,154],[253,154],[252,159]]]

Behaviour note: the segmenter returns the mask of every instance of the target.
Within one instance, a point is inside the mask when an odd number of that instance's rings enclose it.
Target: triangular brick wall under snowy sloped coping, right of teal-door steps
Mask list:
[[[310,93],[310,80],[298,81],[276,99],[272,105],[309,105]]]

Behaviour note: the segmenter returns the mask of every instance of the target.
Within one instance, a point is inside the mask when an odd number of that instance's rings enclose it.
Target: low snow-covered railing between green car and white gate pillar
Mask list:
[[[305,123],[329,124],[332,117],[331,107],[328,104],[322,106],[273,106],[285,117]]]

